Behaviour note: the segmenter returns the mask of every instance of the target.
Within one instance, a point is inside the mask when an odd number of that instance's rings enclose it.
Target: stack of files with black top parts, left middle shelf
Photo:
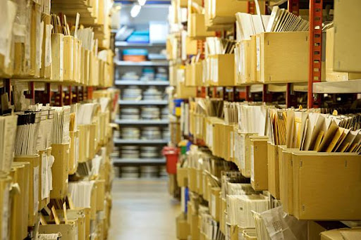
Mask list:
[[[36,154],[37,137],[41,112],[18,113],[18,129],[16,130],[15,155],[34,156]]]

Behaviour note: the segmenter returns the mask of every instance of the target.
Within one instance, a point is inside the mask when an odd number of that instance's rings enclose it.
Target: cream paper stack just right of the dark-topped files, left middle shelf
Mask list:
[[[54,107],[53,134],[51,144],[68,144],[71,106]]]

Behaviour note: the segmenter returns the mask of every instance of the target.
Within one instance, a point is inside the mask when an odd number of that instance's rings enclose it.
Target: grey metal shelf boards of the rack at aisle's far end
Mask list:
[[[114,43],[114,46],[116,49],[118,49],[119,52],[123,49],[152,49],[152,50],[161,50],[165,49],[166,44],[152,44],[152,43],[129,43],[129,42],[120,42],[116,41]],[[123,89],[125,89],[128,86],[137,86],[142,89],[146,89],[147,87],[157,87],[157,89],[161,89],[165,92],[166,87],[169,86],[169,81],[142,81],[142,80],[121,80],[120,77],[123,75],[126,71],[132,70],[140,74],[143,67],[165,67],[167,68],[169,66],[168,61],[161,60],[161,61],[142,61],[142,62],[133,62],[133,61],[121,61],[119,59],[116,59],[114,61],[114,66],[116,68],[116,77],[114,78],[115,82],[114,85],[121,90],[121,95]],[[168,74],[168,70],[167,70]],[[139,100],[139,101],[129,101],[129,100],[122,100],[121,98],[118,101],[118,104],[120,108],[123,106],[133,106],[140,108],[142,106],[158,106],[160,107],[166,107],[168,106],[167,100]],[[159,120],[123,120],[123,119],[116,119],[115,123],[119,125],[120,129],[122,127],[144,127],[144,126],[154,126],[154,127],[167,127],[169,125],[169,120],[166,119],[159,119]],[[114,144],[116,146],[129,146],[129,145],[139,145],[139,146],[159,146],[159,150],[162,146],[165,146],[168,144],[169,139],[121,139],[121,138],[115,138]],[[159,152],[159,158],[121,158],[121,156],[113,157],[113,163],[114,165],[119,167],[119,176],[122,175],[122,168],[125,166],[136,166],[138,167],[138,176],[141,176],[141,166],[155,166],[157,167],[157,176],[160,176],[161,172],[161,166],[165,165],[166,160],[165,158],[160,156]]]

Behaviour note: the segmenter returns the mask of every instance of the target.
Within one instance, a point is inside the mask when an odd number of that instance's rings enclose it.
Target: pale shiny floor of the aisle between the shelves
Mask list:
[[[110,240],[176,239],[179,202],[167,179],[114,179]]]

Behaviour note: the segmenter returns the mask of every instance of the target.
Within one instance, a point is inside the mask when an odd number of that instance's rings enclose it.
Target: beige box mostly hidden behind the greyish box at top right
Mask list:
[[[326,81],[339,82],[361,79],[361,72],[334,71],[334,27],[326,30]],[[361,69],[360,69],[361,71]]]

